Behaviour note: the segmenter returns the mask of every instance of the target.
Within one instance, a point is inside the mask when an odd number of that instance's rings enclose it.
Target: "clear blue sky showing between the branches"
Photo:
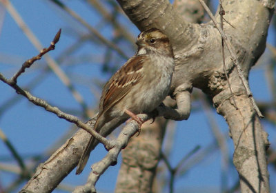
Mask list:
[[[62,28],[61,39],[57,43],[56,49],[50,52],[50,56],[54,59],[59,56],[72,43],[76,41],[76,34],[88,34],[88,30],[80,26],[77,22],[64,14],[50,1],[12,1],[12,4],[17,9],[24,21],[37,36],[39,41],[46,47],[49,45],[52,38],[59,28]],[[106,39],[112,38],[112,29],[110,26],[102,23],[101,17],[91,7],[86,6],[83,1],[68,1],[66,5],[75,10],[83,19],[85,19],[91,26],[99,26],[101,28],[101,34]],[[6,77],[11,77],[16,72],[21,64],[36,55],[38,52],[28,41],[26,36],[21,32],[17,24],[10,17],[8,12],[3,13],[3,7],[0,10],[0,22],[3,22],[0,31],[0,72]],[[1,18],[2,17],[2,18]],[[128,19],[120,17],[121,23],[124,24],[132,32],[133,37],[139,34],[139,30]],[[275,43],[275,31],[270,29],[268,34],[268,42],[272,45]],[[120,46],[124,48],[126,54],[131,57],[135,50],[131,45],[121,43]],[[77,91],[83,96],[84,101],[90,108],[97,106],[98,96],[94,93],[101,92],[99,86],[91,87],[93,83],[104,83],[107,81],[111,74],[106,74],[101,71],[101,63],[103,63],[103,53],[106,52],[105,46],[96,45],[94,43],[85,43],[81,49],[75,52],[72,56],[68,56],[68,59],[61,63],[61,68],[71,77],[73,85]],[[268,63],[268,54],[266,52],[259,61],[266,61]],[[83,58],[90,56],[90,62],[85,60],[78,61],[77,65],[70,65],[70,60],[76,58]],[[120,66],[125,62],[125,59],[115,57],[115,66]],[[26,70],[26,72],[19,77],[18,84],[21,87],[28,87],[31,85],[36,77],[43,75],[43,70],[40,66],[46,66],[45,60],[34,63],[34,65]],[[255,99],[257,101],[271,101],[272,96],[268,88],[268,83],[265,77],[265,65],[257,65],[250,72],[250,88],[253,91]],[[275,74],[275,72],[274,72]],[[23,96],[17,96],[17,94],[8,85],[0,82],[0,112],[3,104],[12,97],[19,99],[16,105],[9,108],[4,113],[1,112],[0,116],[0,128],[6,134],[8,139],[12,141],[12,144],[17,149],[21,156],[28,156],[34,154],[40,154],[45,152],[48,148],[52,148],[52,144],[58,141],[61,136],[66,134],[72,127],[71,123],[58,119],[57,116],[46,112],[45,110],[33,105]],[[34,96],[39,96],[42,99],[46,99],[50,104],[55,105],[63,110],[75,110],[74,112],[80,112],[81,107],[72,97],[72,94],[61,83],[57,76],[53,73],[49,73],[46,79],[43,79],[36,88],[32,91]],[[199,102],[193,102],[193,107],[200,108]],[[217,115],[213,110],[213,116],[215,116],[219,129],[221,132],[227,134],[228,125],[226,125],[223,117]],[[270,134],[269,139],[271,146],[276,148],[276,134],[275,125],[271,125],[263,121],[264,129]],[[175,139],[174,149],[170,156],[172,165],[177,165],[178,161],[183,156],[188,154],[190,150],[193,150],[195,146],[200,145],[204,148],[206,145],[213,143],[214,136],[208,126],[208,119],[204,112],[194,110],[190,114],[188,121],[177,122],[175,127]],[[230,139],[227,139],[229,154],[233,154],[233,143]],[[58,147],[56,147],[58,148]],[[106,150],[100,145],[95,152],[92,153],[92,159],[89,163],[92,164],[95,161],[101,159]],[[0,141],[0,158],[11,158],[10,152]],[[0,159],[0,163],[2,160]],[[3,161],[4,162],[4,161]],[[9,163],[5,162],[5,163]],[[14,163],[14,161],[12,161]],[[98,190],[102,192],[112,192],[115,188],[117,172],[119,170],[118,163],[115,167],[110,167],[101,179],[97,183]],[[230,162],[231,168],[233,164]],[[190,188],[197,187],[198,189],[215,189],[219,192],[219,185],[221,183],[221,154],[219,150],[210,154],[204,161],[195,165],[184,176],[177,179],[175,183],[176,190],[190,190]],[[86,181],[90,167],[86,167],[83,173],[79,176],[75,176],[75,170],[72,174],[69,174],[63,183],[70,184],[72,186],[81,185]],[[233,179],[237,178],[237,172],[235,170],[228,171],[228,185],[233,185]],[[5,187],[14,179],[14,175],[9,172],[0,172],[0,181]],[[270,168],[270,181],[276,181],[275,170]],[[22,184],[23,185],[23,184]],[[273,183],[272,183],[273,185]],[[275,188],[275,187],[274,187]],[[184,190],[185,190],[184,189]],[[214,190],[214,191],[215,191]],[[190,190],[190,192],[195,189]],[[214,192],[213,191],[213,192]],[[276,190],[274,189],[276,192]],[[63,192],[61,190],[55,190],[54,192]]]

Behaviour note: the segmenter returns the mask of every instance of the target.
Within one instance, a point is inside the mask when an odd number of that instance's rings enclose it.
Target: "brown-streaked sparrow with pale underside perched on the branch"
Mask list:
[[[122,123],[131,117],[141,125],[136,114],[155,110],[170,90],[175,63],[168,37],[161,30],[152,28],[141,32],[136,44],[136,54],[103,87],[94,126],[94,130],[103,136],[114,130],[104,129],[104,125],[112,120]],[[91,136],[77,165],[76,174],[82,172],[97,143]]]

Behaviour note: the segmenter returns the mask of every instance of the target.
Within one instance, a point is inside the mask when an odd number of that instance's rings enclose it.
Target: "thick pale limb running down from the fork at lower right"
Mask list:
[[[230,101],[224,101],[217,110],[224,116],[235,145],[233,163],[240,176],[242,192],[270,192],[266,161],[269,145],[255,111],[246,95],[237,96],[236,111]]]

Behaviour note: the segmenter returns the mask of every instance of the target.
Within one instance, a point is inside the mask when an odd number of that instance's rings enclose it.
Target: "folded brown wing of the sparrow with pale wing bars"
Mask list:
[[[145,59],[145,56],[137,56],[129,59],[110,78],[108,83],[103,87],[99,116],[124,98],[124,96],[130,92],[132,86],[139,82],[141,77],[143,77],[141,68]]]

